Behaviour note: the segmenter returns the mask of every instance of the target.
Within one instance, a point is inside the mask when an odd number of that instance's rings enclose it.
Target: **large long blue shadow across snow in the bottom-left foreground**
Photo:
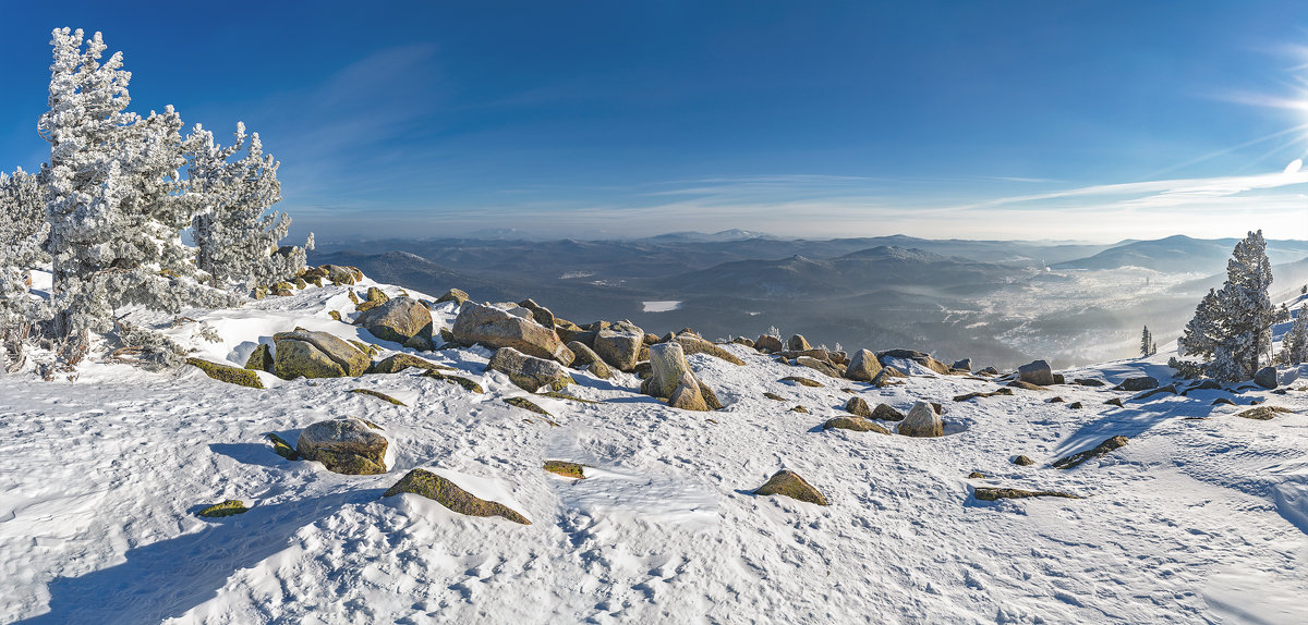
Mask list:
[[[48,586],[50,612],[20,622],[135,624],[179,617],[216,598],[235,571],[289,547],[300,528],[379,496],[381,489],[358,489],[205,519],[199,532],[128,550],[120,565],[56,578]]]

